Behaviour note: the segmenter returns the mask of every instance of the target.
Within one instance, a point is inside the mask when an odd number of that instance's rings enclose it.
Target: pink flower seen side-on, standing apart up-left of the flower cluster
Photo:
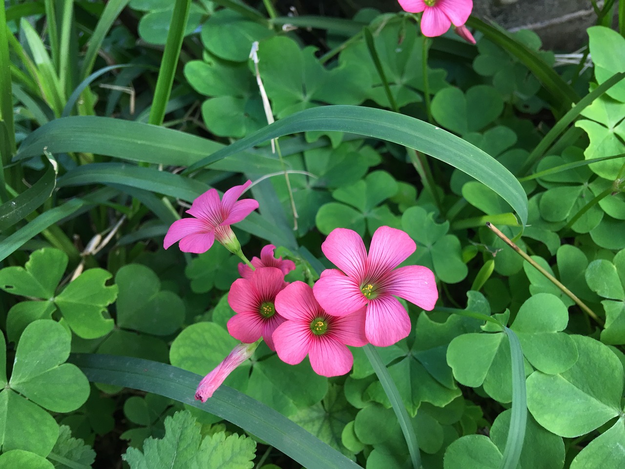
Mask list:
[[[242,186],[228,189],[221,201],[216,189],[203,193],[187,210],[195,218],[174,221],[165,235],[163,247],[167,249],[180,241],[181,251],[200,254],[208,251],[215,239],[228,249],[229,245],[237,246],[238,242],[234,242],[236,237],[230,225],[238,223],[258,208],[258,202],[254,199],[237,201],[251,184],[252,181],[247,181]]]

